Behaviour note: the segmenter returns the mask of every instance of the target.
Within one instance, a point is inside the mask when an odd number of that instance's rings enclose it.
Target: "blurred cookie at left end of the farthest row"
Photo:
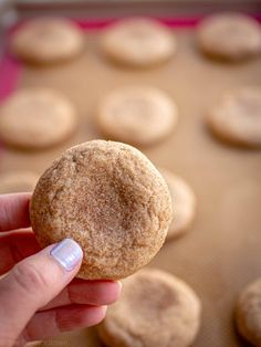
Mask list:
[[[39,64],[74,57],[83,46],[84,39],[79,27],[61,18],[30,20],[11,39],[11,50],[17,56]]]

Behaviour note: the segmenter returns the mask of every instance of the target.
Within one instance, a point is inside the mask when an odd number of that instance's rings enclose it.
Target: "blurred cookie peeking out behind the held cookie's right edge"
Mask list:
[[[173,172],[160,169],[173,201],[174,218],[168,230],[167,240],[184,234],[192,222],[196,210],[196,197],[188,183]]]

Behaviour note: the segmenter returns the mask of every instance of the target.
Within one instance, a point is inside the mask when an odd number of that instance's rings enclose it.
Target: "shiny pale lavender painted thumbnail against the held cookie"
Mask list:
[[[72,239],[65,239],[51,250],[50,255],[66,271],[72,271],[83,259],[81,246]]]

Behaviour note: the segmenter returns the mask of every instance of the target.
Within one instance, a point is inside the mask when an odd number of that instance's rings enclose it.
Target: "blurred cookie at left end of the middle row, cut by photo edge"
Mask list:
[[[71,102],[56,91],[14,92],[0,108],[0,139],[10,146],[40,149],[66,139],[76,126]]]

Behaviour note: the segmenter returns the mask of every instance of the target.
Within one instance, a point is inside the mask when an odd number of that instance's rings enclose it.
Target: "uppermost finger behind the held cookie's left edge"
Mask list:
[[[30,227],[31,193],[0,194],[0,232]]]

